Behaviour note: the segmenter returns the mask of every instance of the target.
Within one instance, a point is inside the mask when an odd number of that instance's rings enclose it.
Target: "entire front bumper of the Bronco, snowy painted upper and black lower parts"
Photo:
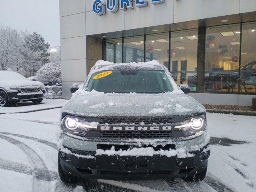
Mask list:
[[[98,144],[106,144],[106,142],[81,141],[62,134],[62,148],[59,152],[60,164],[65,172],[81,178],[108,180],[181,178],[200,173],[206,168],[207,159],[210,156],[209,138],[203,134],[198,138],[175,142],[176,149],[185,146],[187,149],[191,149],[189,153],[193,154],[192,157],[178,158],[177,155],[136,157],[96,155]],[[193,151],[195,145],[200,146],[200,149]],[[92,158],[84,158],[84,156]]]

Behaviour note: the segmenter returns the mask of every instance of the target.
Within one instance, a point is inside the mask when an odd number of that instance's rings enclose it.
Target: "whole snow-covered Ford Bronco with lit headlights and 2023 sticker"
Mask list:
[[[205,108],[155,60],[96,62],[63,106],[61,129],[58,171],[63,182],[199,181],[206,175],[210,135]]]

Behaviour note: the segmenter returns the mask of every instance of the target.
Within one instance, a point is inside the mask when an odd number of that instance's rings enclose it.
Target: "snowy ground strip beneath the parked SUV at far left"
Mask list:
[[[1,107],[0,114],[4,113],[23,113],[35,110],[62,107],[67,100],[64,99],[44,99],[40,104],[33,104],[32,101],[17,103],[16,107]]]

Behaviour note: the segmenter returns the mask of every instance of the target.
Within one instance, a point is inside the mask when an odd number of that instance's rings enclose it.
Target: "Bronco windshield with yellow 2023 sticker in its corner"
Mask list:
[[[104,93],[164,93],[173,90],[164,71],[112,70],[92,74],[87,91]]]

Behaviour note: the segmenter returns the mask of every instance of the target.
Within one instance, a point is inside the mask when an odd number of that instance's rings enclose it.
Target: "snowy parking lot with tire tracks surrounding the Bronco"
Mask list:
[[[204,182],[89,180],[66,186],[57,169],[60,110],[0,115],[1,192],[256,191],[254,116],[207,113],[211,155]]]

